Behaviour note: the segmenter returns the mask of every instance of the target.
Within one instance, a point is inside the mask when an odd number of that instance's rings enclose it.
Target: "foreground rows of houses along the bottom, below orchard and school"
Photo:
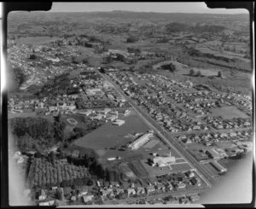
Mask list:
[[[186,189],[187,184],[192,186],[201,186],[201,178],[195,176],[194,171],[187,171],[182,173],[182,175],[177,175],[176,180],[173,181],[154,181],[150,183],[147,181],[141,181],[140,183],[128,183],[128,182],[105,182],[100,180],[96,181],[96,186],[99,191],[99,194],[93,192],[94,189],[91,189],[87,186],[81,186],[79,188],[61,188],[61,187],[52,187],[52,189],[40,189],[38,194],[36,194],[36,202],[38,206],[61,206],[68,204],[76,204],[76,202],[83,202],[85,205],[95,205],[96,204],[96,195],[100,195],[102,201],[113,200],[115,199],[127,199],[132,200],[132,197],[145,197],[153,194],[161,194],[172,192],[174,188],[176,190]],[[183,183],[185,181],[187,183]],[[31,194],[31,189],[26,189],[24,191],[26,196]],[[185,198],[185,200],[183,200]],[[170,199],[170,198],[167,198]],[[173,198],[172,198],[173,199]],[[189,203],[189,201],[199,200],[200,196],[198,194],[191,194],[183,197],[177,197],[171,200],[165,200],[166,203],[180,204],[180,203]],[[152,204],[158,202],[164,202],[164,199],[152,200]],[[147,204],[143,202],[143,204]]]

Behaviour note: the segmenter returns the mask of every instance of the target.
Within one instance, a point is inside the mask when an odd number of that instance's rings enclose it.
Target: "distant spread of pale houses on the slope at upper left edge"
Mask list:
[[[71,55],[78,55],[77,51],[70,51],[58,47],[51,48],[47,46],[33,46],[29,48],[26,44],[12,45],[8,49],[8,60],[11,67],[20,67],[22,73],[26,75],[26,81],[20,86],[20,89],[26,89],[30,84],[43,84],[48,78],[60,75],[66,70],[72,70],[72,62],[67,62]],[[30,55],[39,57],[36,61],[28,59]],[[61,67],[65,63],[65,68]],[[79,67],[85,67],[80,65]],[[47,73],[48,76],[45,76]]]

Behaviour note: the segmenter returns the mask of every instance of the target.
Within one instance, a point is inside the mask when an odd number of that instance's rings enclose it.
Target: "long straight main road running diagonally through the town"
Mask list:
[[[189,154],[189,152],[184,150],[181,144],[179,144],[174,140],[172,140],[172,143],[171,143],[169,133],[165,131],[160,125],[158,125],[154,121],[154,119],[152,119],[148,115],[148,113],[145,113],[141,109],[141,107],[138,107],[137,104],[133,102],[129,96],[126,96],[123,90],[121,90],[117,84],[115,84],[110,78],[108,78],[106,74],[100,73],[98,71],[96,72],[101,74],[103,78],[108,80],[108,82],[113,85],[114,89],[117,90],[117,92],[119,92],[121,96],[124,96],[128,102],[130,102],[131,107],[133,107],[135,112],[143,118],[143,120],[148,124],[148,126],[150,126],[166,142],[166,144],[174,148],[178,154],[183,156],[183,158],[189,163],[189,165],[192,168],[196,169],[198,175],[207,183],[209,187],[211,187],[213,183],[218,182],[218,179],[215,179],[214,177],[212,177],[212,173],[208,171],[204,165],[201,165],[197,160],[195,160],[195,158],[191,154]]]

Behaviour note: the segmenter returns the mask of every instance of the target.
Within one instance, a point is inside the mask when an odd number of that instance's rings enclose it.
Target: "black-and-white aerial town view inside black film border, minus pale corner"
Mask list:
[[[246,9],[53,3],[7,44],[10,205],[201,204],[253,161]]]

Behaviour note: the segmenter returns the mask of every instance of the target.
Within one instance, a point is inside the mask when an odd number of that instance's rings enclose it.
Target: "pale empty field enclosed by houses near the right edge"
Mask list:
[[[235,106],[211,108],[212,116],[222,116],[223,119],[233,119],[233,118],[247,118],[247,114],[242,113]]]

